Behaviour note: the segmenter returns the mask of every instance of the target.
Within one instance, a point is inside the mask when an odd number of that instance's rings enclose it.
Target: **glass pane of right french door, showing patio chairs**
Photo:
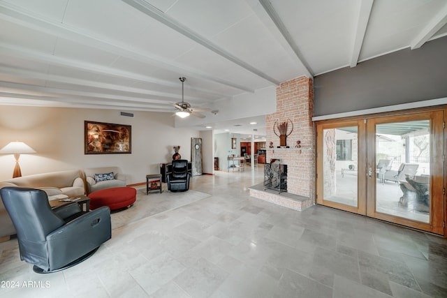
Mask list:
[[[430,222],[430,121],[376,125],[376,211]]]

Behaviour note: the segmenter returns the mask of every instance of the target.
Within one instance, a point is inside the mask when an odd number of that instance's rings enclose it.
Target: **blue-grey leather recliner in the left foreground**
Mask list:
[[[51,209],[45,191],[34,188],[5,187],[0,195],[17,231],[20,259],[34,265],[36,273],[72,267],[112,237],[108,207]]]

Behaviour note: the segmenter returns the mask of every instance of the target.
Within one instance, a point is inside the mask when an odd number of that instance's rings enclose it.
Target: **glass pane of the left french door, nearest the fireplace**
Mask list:
[[[323,199],[358,206],[357,126],[323,130]]]

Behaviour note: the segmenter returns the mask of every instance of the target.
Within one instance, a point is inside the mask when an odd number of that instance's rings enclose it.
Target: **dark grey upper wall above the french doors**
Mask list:
[[[314,116],[447,97],[447,36],[314,77]]]

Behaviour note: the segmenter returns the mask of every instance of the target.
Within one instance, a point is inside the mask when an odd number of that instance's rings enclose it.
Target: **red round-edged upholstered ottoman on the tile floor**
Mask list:
[[[90,198],[90,210],[108,206],[110,210],[121,209],[132,205],[136,200],[137,190],[131,187],[114,187],[94,191],[87,195]]]

